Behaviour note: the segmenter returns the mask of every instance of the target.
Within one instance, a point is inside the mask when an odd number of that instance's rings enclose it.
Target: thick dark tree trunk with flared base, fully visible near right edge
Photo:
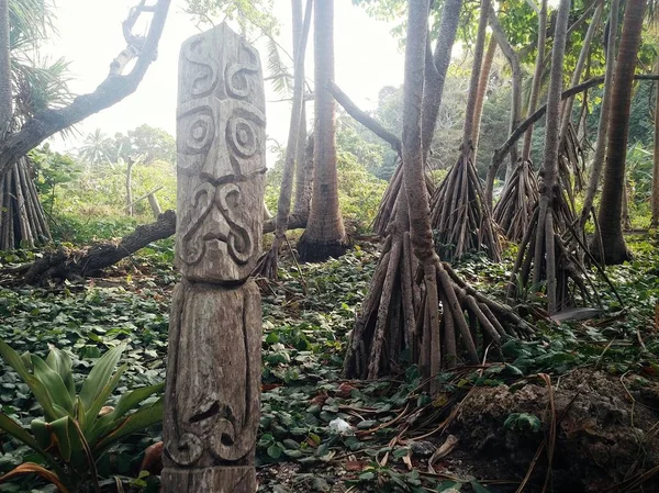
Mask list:
[[[606,265],[622,264],[632,258],[622,227],[623,187],[625,186],[632,87],[646,4],[646,0],[627,1],[616,60],[608,122],[608,150],[604,168],[602,204],[597,216],[604,249],[604,258],[601,260]]]

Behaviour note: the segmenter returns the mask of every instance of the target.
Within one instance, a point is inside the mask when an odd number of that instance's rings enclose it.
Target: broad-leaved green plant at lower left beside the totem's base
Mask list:
[[[37,474],[62,492],[75,493],[91,484],[99,490],[96,462],[114,442],[163,419],[161,399],[146,403],[164,384],[124,393],[116,406],[105,406],[127,366],[116,369],[126,345],[107,351],[76,393],[69,355],[55,347],[46,359],[25,352],[19,356],[0,340],[0,356],[27,384],[43,411],[30,430],[4,413],[0,429],[32,448],[44,464],[25,462],[0,482],[21,474]]]

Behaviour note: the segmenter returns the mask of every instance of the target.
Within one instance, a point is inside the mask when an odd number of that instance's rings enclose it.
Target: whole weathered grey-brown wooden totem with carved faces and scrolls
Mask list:
[[[254,493],[260,413],[265,97],[258,53],[222,24],[186,41],[177,112],[176,287],[163,492]]]

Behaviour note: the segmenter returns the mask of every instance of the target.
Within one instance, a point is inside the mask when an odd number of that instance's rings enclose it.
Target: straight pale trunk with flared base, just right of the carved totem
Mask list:
[[[334,0],[317,2],[314,14],[314,180],[309,223],[298,242],[303,261],[338,257],[348,246],[338,208],[335,103],[327,89],[334,80]]]

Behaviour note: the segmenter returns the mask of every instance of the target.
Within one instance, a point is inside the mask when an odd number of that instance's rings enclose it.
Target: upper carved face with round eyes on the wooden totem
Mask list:
[[[222,24],[179,60],[177,265],[191,280],[245,280],[259,256],[265,97],[256,51]]]

